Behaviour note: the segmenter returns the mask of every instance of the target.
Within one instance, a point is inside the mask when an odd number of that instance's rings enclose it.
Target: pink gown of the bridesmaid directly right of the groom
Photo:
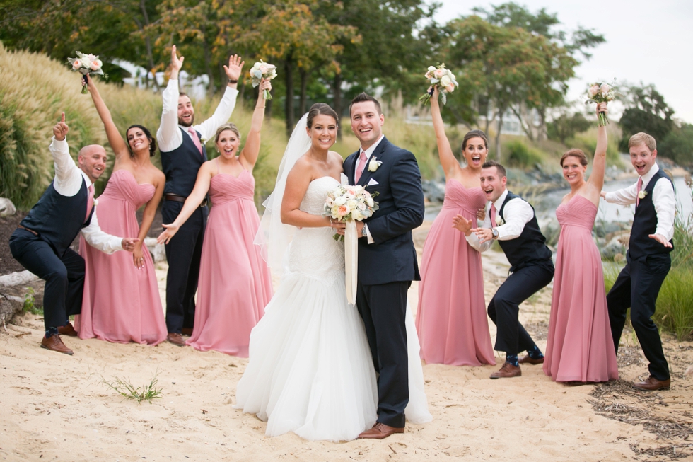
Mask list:
[[[453,228],[462,215],[477,226],[486,204],[481,187],[448,180],[441,212],[424,243],[419,282],[417,332],[421,359],[453,366],[496,364],[484,301],[482,257]]]

